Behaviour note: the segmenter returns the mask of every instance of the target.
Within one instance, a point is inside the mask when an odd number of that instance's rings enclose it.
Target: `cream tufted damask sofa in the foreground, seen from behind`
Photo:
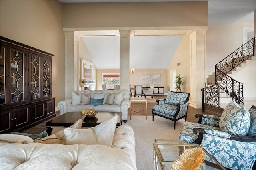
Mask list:
[[[19,136],[0,135],[1,170],[137,169],[134,132],[128,125],[115,129],[111,147],[103,144],[43,144],[33,142],[28,136]]]

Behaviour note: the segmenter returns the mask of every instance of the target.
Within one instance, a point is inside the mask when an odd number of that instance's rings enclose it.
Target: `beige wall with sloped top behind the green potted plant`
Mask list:
[[[177,63],[180,65],[177,66]],[[183,36],[176,53],[167,71],[168,90],[170,90],[170,70],[176,69],[176,75],[180,74],[184,77],[184,86],[181,91],[190,93],[190,37]],[[202,70],[203,72],[204,70]]]

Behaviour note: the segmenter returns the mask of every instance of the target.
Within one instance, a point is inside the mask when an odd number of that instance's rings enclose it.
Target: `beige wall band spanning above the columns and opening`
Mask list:
[[[64,28],[208,26],[208,2],[64,3]]]

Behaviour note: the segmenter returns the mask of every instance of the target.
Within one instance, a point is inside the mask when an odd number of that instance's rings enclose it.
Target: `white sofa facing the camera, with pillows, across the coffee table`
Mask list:
[[[98,96],[104,94],[103,105],[90,105],[90,98],[93,98],[94,94]],[[114,94],[114,100],[109,102],[108,99],[112,94]],[[106,101],[108,102],[106,103]],[[82,111],[85,108],[97,111],[122,112],[122,120],[126,122],[130,108],[129,92],[126,90],[77,90],[72,92],[70,99],[60,101],[57,107],[60,109],[60,115],[66,112]]]

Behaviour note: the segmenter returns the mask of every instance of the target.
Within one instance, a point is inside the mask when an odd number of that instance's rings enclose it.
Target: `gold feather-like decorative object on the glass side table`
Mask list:
[[[203,162],[204,152],[202,146],[198,149],[186,149],[174,161],[171,170],[198,170]]]

